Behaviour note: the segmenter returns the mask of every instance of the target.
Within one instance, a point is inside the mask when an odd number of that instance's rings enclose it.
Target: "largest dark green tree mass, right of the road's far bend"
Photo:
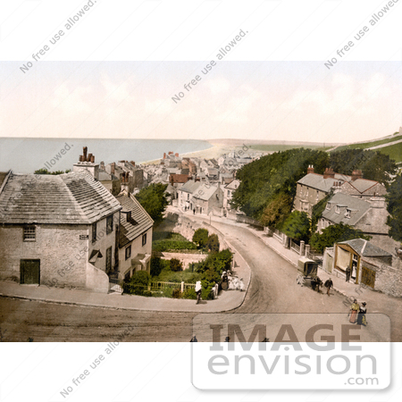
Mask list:
[[[275,207],[275,202],[279,204],[281,199],[278,195],[287,195],[283,201],[291,208],[297,180],[306,175],[309,164],[314,164],[315,172],[322,173],[329,166],[329,155],[313,149],[293,148],[247,163],[236,173],[240,185],[233,193],[232,204],[247,216],[261,220],[265,208],[274,201],[272,212],[268,210],[265,216],[265,222],[273,222],[272,214],[275,208],[279,210],[278,205]],[[281,217],[285,217],[283,212]]]

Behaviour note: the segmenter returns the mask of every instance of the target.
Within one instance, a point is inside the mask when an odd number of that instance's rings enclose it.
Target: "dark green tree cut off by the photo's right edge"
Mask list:
[[[385,196],[387,200],[387,225],[389,226],[389,237],[394,240],[402,241],[402,176],[399,175],[388,189]]]

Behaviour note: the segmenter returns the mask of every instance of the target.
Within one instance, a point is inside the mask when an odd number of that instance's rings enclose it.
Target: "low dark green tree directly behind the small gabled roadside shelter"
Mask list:
[[[336,225],[328,226],[322,230],[322,233],[314,233],[310,239],[310,246],[314,250],[322,253],[325,247],[332,247],[335,243],[353,239],[372,239],[370,236],[364,236],[362,230],[354,229],[352,226],[345,225],[342,222]]]

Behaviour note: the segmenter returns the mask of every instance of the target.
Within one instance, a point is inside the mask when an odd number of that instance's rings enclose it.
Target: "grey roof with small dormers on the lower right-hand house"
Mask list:
[[[356,223],[362,219],[363,215],[371,207],[369,202],[360,198],[348,196],[348,194],[343,193],[335,194],[333,197],[331,197],[328,203],[331,205],[331,209],[325,209],[322,212],[322,218],[325,218],[333,223],[343,222],[350,226],[356,225]],[[340,214],[336,213],[337,205],[342,208]],[[352,214],[350,218],[345,216],[347,208],[351,211],[356,211],[356,213]]]

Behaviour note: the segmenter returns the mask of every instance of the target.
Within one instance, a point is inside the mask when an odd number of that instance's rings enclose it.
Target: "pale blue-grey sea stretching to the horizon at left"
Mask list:
[[[105,164],[121,160],[136,164],[163,158],[163,153],[179,155],[213,147],[197,139],[81,139],[81,138],[0,138],[0,172],[33,173],[72,170],[82,148]]]

